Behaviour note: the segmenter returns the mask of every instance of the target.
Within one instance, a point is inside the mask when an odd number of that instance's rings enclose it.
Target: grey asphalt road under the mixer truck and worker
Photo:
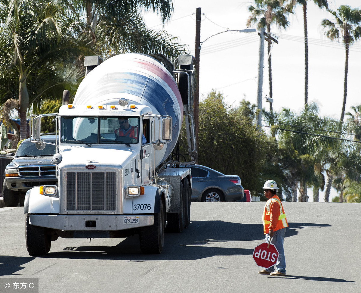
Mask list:
[[[166,234],[160,255],[143,255],[133,236],[58,238],[42,258],[26,251],[22,207],[0,208],[0,284],[39,278],[42,293],[361,292],[361,204],[283,204],[286,277],[258,275],[252,258],[264,241],[262,202],[192,202],[190,227]]]

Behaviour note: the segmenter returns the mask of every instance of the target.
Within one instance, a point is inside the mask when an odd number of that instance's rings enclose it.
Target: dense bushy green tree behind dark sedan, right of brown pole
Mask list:
[[[243,100],[238,108],[232,109],[221,93],[210,92],[199,104],[198,137],[199,164],[238,175],[244,188],[253,193],[263,184],[260,174],[270,148],[266,135],[253,123],[255,107]],[[183,142],[184,136],[183,132]]]

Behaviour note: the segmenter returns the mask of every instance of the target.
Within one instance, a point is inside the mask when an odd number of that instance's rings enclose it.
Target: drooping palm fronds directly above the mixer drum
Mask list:
[[[141,9],[160,13],[162,21],[173,12],[171,0],[73,0],[73,9],[85,15],[84,33],[92,38],[104,56],[111,53],[141,52],[162,53],[174,59],[184,53],[183,46],[164,30],[148,30]]]

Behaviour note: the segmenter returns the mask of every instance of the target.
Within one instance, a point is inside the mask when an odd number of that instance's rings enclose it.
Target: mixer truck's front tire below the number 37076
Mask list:
[[[145,254],[160,254],[164,247],[165,207],[160,200],[159,213],[154,215],[154,224],[140,228],[140,249]]]

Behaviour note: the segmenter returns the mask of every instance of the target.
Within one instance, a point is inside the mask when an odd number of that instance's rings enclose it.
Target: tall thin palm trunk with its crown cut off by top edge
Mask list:
[[[329,8],[327,0],[313,0],[319,8]],[[291,0],[293,6],[300,4],[303,9],[303,25],[305,36],[305,105],[308,103],[308,36],[307,36],[307,0]]]

